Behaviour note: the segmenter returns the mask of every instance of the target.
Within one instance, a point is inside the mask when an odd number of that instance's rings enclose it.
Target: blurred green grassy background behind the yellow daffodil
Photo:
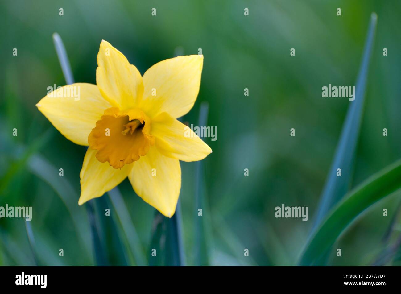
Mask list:
[[[186,264],[295,265],[350,103],[322,98],[321,88],[354,85],[371,12],[378,25],[352,187],[400,158],[400,1],[2,1],[0,206],[32,206],[34,240],[24,219],[0,219],[0,265],[96,264],[86,204],[77,204],[85,148],[64,138],[35,107],[47,87],[65,85],[53,32],[63,39],[77,82],[96,83],[102,39],[141,74],[158,61],[202,48],[201,89],[182,121],[197,125],[207,101],[207,125],[217,126],[217,140],[205,139],[213,153],[201,165],[201,187],[199,166],[181,162]],[[201,237],[197,190],[205,198]],[[106,264],[148,264],[155,210],[128,180],[119,191],[128,219],[119,219],[107,194],[91,201]],[[338,239],[342,257],[333,247],[326,264],[370,265],[380,258],[391,245],[383,236],[392,220],[393,238],[401,233],[399,201],[398,191],[365,211]],[[275,218],[274,208],[283,203],[308,206],[309,221]],[[136,234],[124,234],[123,225]],[[384,263],[401,265],[397,255]]]

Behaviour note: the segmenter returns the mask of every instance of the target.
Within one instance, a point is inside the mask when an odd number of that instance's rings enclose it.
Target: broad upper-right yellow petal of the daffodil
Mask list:
[[[151,118],[161,112],[173,118],[183,116],[198,96],[202,67],[203,55],[178,56],[156,63],[144,73],[140,108]]]

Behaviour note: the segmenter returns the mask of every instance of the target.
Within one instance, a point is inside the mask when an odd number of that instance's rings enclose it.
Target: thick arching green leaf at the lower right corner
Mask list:
[[[374,174],[350,191],[312,235],[300,259],[300,265],[312,265],[358,215],[400,188],[401,160]]]

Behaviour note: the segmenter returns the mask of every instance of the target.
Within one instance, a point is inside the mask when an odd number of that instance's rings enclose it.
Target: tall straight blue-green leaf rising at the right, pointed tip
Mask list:
[[[362,121],[368,69],[375,38],[376,24],[377,15],[372,13],[362,63],[356,79],[355,100],[349,101],[350,106],[342,127],[336,154],[322,192],[313,228],[316,228],[320,224],[326,213],[346,194],[350,186],[352,163],[355,157],[356,143]],[[337,168],[341,168],[341,176],[336,175]]]

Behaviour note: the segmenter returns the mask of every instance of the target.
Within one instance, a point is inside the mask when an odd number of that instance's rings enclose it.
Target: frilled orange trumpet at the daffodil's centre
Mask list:
[[[98,150],[96,158],[122,168],[145,156],[154,137],[149,134],[150,119],[140,109],[120,112],[117,107],[106,109],[88,136],[89,147]]]

